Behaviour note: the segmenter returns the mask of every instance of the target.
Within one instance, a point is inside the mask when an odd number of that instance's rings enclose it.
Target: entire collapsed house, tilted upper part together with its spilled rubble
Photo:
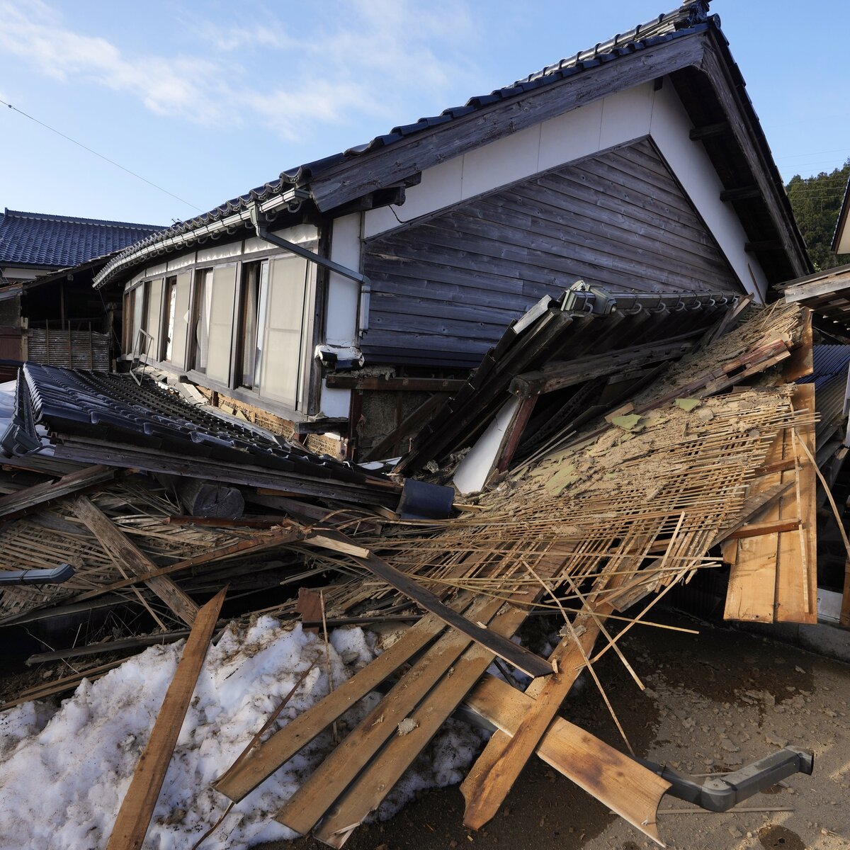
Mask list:
[[[3,707],[75,692],[71,711],[186,638],[89,840],[199,846],[238,819],[341,847],[458,718],[491,733],[464,765],[473,828],[532,757],[659,843],[665,794],[723,810],[811,773],[785,747],[703,781],[558,717],[586,672],[616,721],[598,659],[643,688],[621,637],[704,575],[730,621],[816,623],[822,500],[850,559],[850,353],[777,297],[811,268],[706,7],[151,235],[94,272],[124,287],[129,371],[20,370],[0,626],[79,633],[30,659],[77,669]],[[513,640],[532,614],[558,623],[542,655]],[[201,713],[224,711],[204,658],[268,615],[323,638],[201,769],[178,732],[202,669]],[[341,671],[335,626],[404,630]],[[222,701],[269,687],[235,672]],[[175,751],[218,823],[170,796],[150,823]]]

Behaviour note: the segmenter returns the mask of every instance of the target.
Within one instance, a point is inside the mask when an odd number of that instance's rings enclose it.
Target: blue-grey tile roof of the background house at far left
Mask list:
[[[0,215],[0,266],[65,269],[133,245],[161,229],[156,224],[6,209]]]

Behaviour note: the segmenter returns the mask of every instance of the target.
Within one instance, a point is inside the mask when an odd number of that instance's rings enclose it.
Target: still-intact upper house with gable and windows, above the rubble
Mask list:
[[[762,301],[808,274],[744,87],[689,0],[151,235],[94,283],[125,289],[125,351],[144,330],[228,405],[371,445],[576,279]]]

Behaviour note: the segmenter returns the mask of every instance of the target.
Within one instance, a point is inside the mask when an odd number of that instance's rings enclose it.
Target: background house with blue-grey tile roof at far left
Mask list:
[[[92,291],[91,269],[157,229],[6,209],[0,215],[0,359],[108,369],[108,293]],[[93,263],[96,258],[104,259]],[[73,273],[60,271],[72,266]],[[0,366],[0,377],[14,371]]]

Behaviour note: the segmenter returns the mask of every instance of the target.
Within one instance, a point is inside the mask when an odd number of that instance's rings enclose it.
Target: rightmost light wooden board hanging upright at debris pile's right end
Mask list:
[[[809,316],[811,320],[811,315]],[[791,406],[796,411],[807,410],[814,415],[814,384],[797,384],[791,394]],[[798,439],[815,456],[815,426],[797,428]],[[776,620],[791,623],[818,621],[818,504],[817,478],[808,457],[788,433],[786,442],[799,463],[796,491],[790,493],[780,507],[780,517],[796,512],[801,520],[799,530],[779,534],[777,563]],[[788,473],[793,475],[794,473]],[[799,499],[799,502],[797,501]],[[783,499],[785,502],[785,499]]]

